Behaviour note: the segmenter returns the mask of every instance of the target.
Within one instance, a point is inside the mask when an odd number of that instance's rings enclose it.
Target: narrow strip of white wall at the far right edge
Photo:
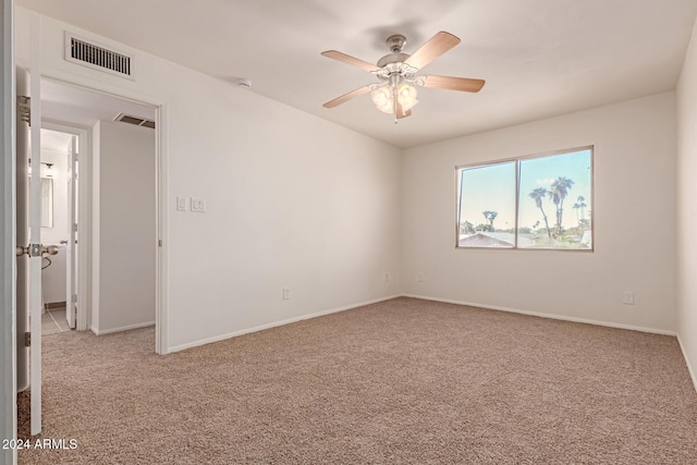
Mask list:
[[[677,85],[677,333],[697,388],[697,23]]]

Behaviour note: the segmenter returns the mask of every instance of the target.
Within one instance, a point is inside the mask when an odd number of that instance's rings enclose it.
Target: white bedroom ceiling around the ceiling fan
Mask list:
[[[17,0],[85,29],[398,147],[672,90],[697,0]],[[368,95],[322,103],[376,82],[320,56],[369,62],[391,34],[414,52],[439,30],[462,42],[426,74],[484,78],[479,94],[420,88],[395,125]]]

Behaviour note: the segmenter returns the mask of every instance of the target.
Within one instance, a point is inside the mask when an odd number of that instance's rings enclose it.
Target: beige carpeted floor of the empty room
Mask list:
[[[398,298],[167,356],[154,338],[45,336],[40,438],[77,448],[20,463],[697,463],[671,336]]]

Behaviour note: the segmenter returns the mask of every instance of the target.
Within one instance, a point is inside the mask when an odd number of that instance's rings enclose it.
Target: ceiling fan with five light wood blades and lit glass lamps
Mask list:
[[[460,39],[452,34],[441,30],[413,54],[402,52],[405,44],[406,37],[400,34],[388,37],[387,45],[390,53],[378,60],[377,65],[337,50],[322,52],[321,54],[327,58],[368,71],[379,81],[337,97],[322,107],[334,108],[354,97],[371,93],[370,97],[376,107],[386,113],[394,114],[396,123],[398,120],[409,117],[412,107],[418,103],[415,85],[469,93],[477,93],[484,87],[484,79],[416,74],[428,63],[460,44]]]

